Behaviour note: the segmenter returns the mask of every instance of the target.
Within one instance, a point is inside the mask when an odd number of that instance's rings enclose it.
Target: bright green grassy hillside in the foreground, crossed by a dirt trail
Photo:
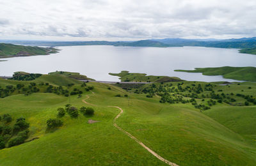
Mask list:
[[[135,80],[145,81],[144,78]],[[27,92],[33,85],[31,82],[36,83],[38,92]],[[159,82],[131,85],[125,90],[118,84],[88,82],[84,86],[83,82],[67,75],[42,75],[31,81],[0,79],[0,89],[17,84],[24,84],[27,91],[15,89],[8,96],[2,96],[0,116],[10,114],[13,117],[8,125],[24,117],[30,124],[27,140],[39,139],[1,149],[0,165],[167,165],[116,129],[113,119],[119,110],[108,106],[124,110],[116,120],[118,126],[170,162],[178,165],[256,163],[256,105],[253,102],[244,105],[248,100],[246,96],[255,100],[256,84],[253,82],[227,86],[220,85],[221,82]],[[51,92],[47,91],[49,86],[52,86]],[[58,94],[59,90],[54,89],[60,86],[69,93],[75,88],[83,93],[80,97],[79,94]],[[88,90],[87,87],[93,88]],[[221,96],[221,103],[212,96]],[[182,100],[178,101],[179,98]],[[216,104],[202,110],[186,102],[192,98],[198,105],[207,105],[210,100]],[[83,103],[84,99],[93,105]],[[167,102],[159,102],[164,99]],[[56,118],[57,109],[69,102],[77,108],[92,107],[95,115],[83,116],[79,112],[79,117],[71,118],[66,114],[60,118],[63,126],[47,130],[47,119]],[[88,119],[100,122],[88,124]],[[7,124],[2,120],[0,125]]]

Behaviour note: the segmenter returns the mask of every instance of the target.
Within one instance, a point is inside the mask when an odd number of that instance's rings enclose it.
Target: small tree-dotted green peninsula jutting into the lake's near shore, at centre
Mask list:
[[[180,81],[178,77],[155,76],[145,73],[129,73],[122,71],[120,73],[109,73],[109,75],[118,76],[122,82],[172,82]]]

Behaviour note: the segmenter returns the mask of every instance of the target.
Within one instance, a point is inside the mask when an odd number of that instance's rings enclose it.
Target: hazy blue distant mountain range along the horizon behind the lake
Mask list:
[[[3,40],[2,40],[3,41]],[[19,41],[4,40],[4,43],[14,43],[20,45],[37,45],[47,47],[72,46],[72,45],[113,45],[129,47],[216,47],[232,49],[251,49],[256,48],[256,37],[237,38],[237,39],[183,39],[165,38],[140,41]]]

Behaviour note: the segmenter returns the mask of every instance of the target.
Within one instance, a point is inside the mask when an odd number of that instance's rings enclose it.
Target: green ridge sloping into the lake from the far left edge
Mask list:
[[[52,47],[31,47],[0,43],[0,58],[17,56],[37,56],[56,53],[57,49]]]

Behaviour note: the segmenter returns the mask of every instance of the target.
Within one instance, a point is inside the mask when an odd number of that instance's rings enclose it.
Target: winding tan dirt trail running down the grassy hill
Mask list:
[[[86,102],[85,100],[87,100],[88,98],[90,98],[90,96],[86,96],[86,98],[84,100],[82,100],[82,102],[88,104],[88,105],[93,105],[93,106],[97,106],[97,105],[94,105],[92,103],[88,103]],[[156,158],[158,158],[159,160],[161,160],[162,162],[164,163],[167,163],[168,165],[172,165],[172,166],[179,166],[177,165],[176,163],[172,163],[166,159],[164,159],[162,156],[158,155],[156,152],[152,151],[152,149],[150,149],[149,147],[145,146],[145,144],[143,144],[140,140],[136,139],[136,137],[134,137],[133,135],[131,135],[131,133],[128,133],[126,132],[124,129],[120,128],[120,126],[118,126],[116,124],[116,119],[118,117],[121,116],[121,114],[123,114],[124,110],[121,109],[120,107],[117,107],[117,106],[108,106],[108,107],[113,107],[113,108],[116,108],[116,109],[119,109],[120,112],[119,114],[114,118],[114,121],[113,121],[113,125],[118,129],[120,130],[121,132],[125,133],[126,135],[128,135],[131,139],[135,140],[138,144],[140,144],[142,147],[144,147],[149,153],[151,153],[152,155],[156,156]]]

